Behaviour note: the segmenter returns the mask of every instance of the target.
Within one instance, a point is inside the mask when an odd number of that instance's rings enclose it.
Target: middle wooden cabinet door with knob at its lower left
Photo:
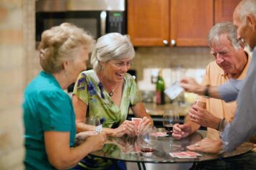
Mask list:
[[[214,0],[171,0],[171,45],[207,46]]]

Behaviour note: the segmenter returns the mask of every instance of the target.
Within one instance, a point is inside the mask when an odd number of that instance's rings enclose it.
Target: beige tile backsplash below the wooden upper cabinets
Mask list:
[[[138,88],[153,91],[151,76],[163,69],[166,86],[184,76],[202,81],[204,70],[214,57],[208,47],[143,47],[136,49],[136,58],[131,69],[137,71]]]

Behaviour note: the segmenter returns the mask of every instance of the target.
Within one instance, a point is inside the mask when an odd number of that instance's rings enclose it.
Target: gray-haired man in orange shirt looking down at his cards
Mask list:
[[[215,61],[208,64],[202,85],[219,86],[229,79],[244,79],[250,64],[250,57],[244,45],[237,40],[237,30],[232,23],[219,23],[212,27],[207,38],[210,52]],[[226,103],[220,99],[199,97],[201,106],[206,109],[189,110],[185,124],[175,124],[172,136],[182,139],[193,134],[200,126],[207,127],[207,137],[219,140],[220,122],[230,122],[237,108],[235,101]],[[195,113],[197,112],[197,113]]]

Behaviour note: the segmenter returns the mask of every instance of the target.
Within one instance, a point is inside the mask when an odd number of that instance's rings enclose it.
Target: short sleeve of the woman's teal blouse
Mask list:
[[[70,97],[63,91],[50,91],[42,95],[39,116],[44,131],[70,131],[74,114]]]

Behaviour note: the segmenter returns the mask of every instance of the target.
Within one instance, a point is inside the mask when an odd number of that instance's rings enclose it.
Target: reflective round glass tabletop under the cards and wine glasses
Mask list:
[[[156,130],[161,132],[165,131],[164,129]],[[194,156],[194,158],[187,159],[171,156],[171,153],[174,152],[189,151],[186,149],[186,146],[200,141],[204,138],[205,134],[205,131],[197,131],[195,134],[181,140],[175,140],[171,136],[156,137],[156,146],[153,146],[154,150],[149,154],[145,154],[145,152],[141,151],[142,141],[139,136],[123,136],[120,138],[108,137],[103,149],[90,154],[101,158],[112,159],[113,161],[137,162],[139,169],[141,169],[140,164],[142,164],[143,169],[146,169],[144,163],[196,163],[238,156],[252,150],[253,144],[245,142],[230,153],[207,154],[199,152],[202,156]]]

